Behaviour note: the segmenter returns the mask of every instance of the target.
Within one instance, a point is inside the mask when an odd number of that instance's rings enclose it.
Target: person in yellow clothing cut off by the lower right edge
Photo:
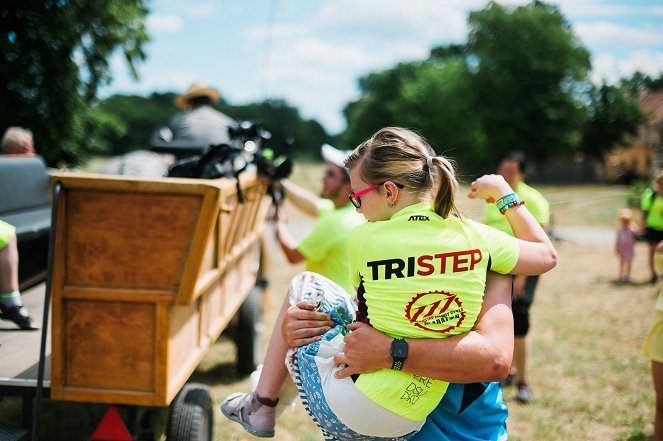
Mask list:
[[[654,269],[663,277],[663,242],[654,248]],[[656,391],[656,419],[654,441],[663,441],[663,284],[659,285],[654,323],[645,340],[645,357],[651,359],[654,390]]]

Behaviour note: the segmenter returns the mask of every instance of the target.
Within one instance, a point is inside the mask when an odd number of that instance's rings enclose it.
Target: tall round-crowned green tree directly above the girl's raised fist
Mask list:
[[[469,25],[468,62],[492,156],[520,150],[542,161],[577,148],[590,58],[557,7],[491,2]]]

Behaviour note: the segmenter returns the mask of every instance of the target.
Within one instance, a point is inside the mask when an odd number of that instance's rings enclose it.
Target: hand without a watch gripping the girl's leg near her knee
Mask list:
[[[288,308],[283,316],[281,333],[283,339],[293,347],[304,346],[320,340],[320,336],[329,331],[334,322],[328,314],[314,311],[309,302],[299,302]]]

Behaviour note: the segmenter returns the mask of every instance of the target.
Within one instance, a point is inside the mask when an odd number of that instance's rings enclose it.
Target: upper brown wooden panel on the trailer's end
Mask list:
[[[67,191],[66,284],[177,292],[201,199]]]

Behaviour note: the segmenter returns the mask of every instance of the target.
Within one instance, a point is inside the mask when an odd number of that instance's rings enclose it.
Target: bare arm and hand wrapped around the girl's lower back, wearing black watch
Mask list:
[[[353,323],[350,328],[353,332],[345,336],[345,352],[334,357],[336,364],[347,365],[337,377],[391,368],[391,337],[363,323]],[[404,371],[451,383],[503,380],[513,357],[511,276],[489,273],[481,313],[472,331],[407,342]]]

